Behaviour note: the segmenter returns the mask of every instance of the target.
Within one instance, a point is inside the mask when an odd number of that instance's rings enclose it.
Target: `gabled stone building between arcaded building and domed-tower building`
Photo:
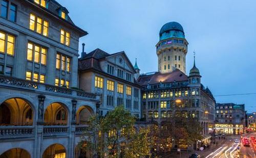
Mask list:
[[[124,51],[108,54],[95,49],[82,52],[79,59],[79,88],[100,96],[100,115],[105,116],[123,105],[132,115],[141,117],[141,86],[135,80],[134,68]]]

